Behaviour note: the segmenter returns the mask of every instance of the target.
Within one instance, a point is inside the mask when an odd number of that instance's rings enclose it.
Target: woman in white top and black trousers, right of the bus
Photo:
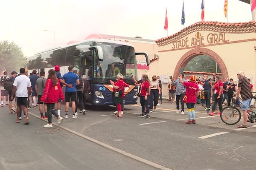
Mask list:
[[[161,91],[160,91],[160,87],[159,87],[159,83],[158,83],[158,80],[157,80],[157,76],[154,75],[152,77],[152,81],[150,82],[150,106],[149,106],[149,109],[150,109],[150,113],[153,112],[153,105],[154,105],[154,111],[157,111],[157,104],[158,104],[158,97],[159,97],[159,94],[161,94]]]

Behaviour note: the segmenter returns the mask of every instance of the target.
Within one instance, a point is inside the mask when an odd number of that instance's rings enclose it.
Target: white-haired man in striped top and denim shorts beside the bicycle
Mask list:
[[[236,99],[239,98],[239,94],[241,94],[242,97],[242,110],[243,110],[243,117],[244,117],[244,122],[243,125],[238,126],[238,128],[247,128],[247,111],[252,99],[252,91],[250,87],[250,82],[245,77],[245,74],[243,71],[239,71],[237,73],[237,78],[239,79],[238,81],[238,90],[236,92]]]

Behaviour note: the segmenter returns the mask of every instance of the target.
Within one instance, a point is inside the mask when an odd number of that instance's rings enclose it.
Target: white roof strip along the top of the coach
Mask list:
[[[79,44],[84,43],[84,42],[108,42],[108,43],[113,43],[113,44],[121,44],[121,45],[127,45],[127,46],[134,47],[133,45],[131,45],[129,43],[126,43],[126,42],[122,42],[122,41],[113,41],[113,40],[105,40],[105,39],[88,39],[88,40],[79,41],[79,42],[69,44],[69,45],[56,46],[56,47],[48,48],[46,50],[37,52],[35,55],[42,54],[42,53],[52,51],[52,50],[56,50],[56,49],[67,48],[67,47],[70,47],[70,46],[73,46],[73,45],[79,45]]]

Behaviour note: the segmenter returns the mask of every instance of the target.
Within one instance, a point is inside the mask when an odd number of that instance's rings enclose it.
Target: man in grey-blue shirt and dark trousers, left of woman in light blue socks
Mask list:
[[[184,79],[184,74],[181,74],[183,82],[187,82],[186,79]],[[180,110],[180,103],[181,103],[181,114],[184,114],[184,102],[183,97],[186,94],[186,88],[182,83],[180,83],[180,78],[178,78],[175,82],[173,82],[173,85],[176,86],[176,106],[177,111],[176,113],[179,113]]]

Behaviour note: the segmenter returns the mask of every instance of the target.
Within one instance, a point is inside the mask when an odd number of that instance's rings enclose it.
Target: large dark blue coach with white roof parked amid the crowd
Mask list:
[[[121,73],[124,81],[130,85],[125,88],[124,104],[137,104],[138,87],[132,81],[132,76],[137,78],[136,55],[144,55],[149,65],[148,54],[135,53],[131,44],[90,39],[38,52],[27,58],[26,69],[29,73],[44,70],[47,77],[49,69],[59,65],[63,76],[68,72],[68,66],[73,65],[79,75],[86,75],[90,83],[86,101],[89,105],[113,105],[110,80],[115,81],[117,74]]]

